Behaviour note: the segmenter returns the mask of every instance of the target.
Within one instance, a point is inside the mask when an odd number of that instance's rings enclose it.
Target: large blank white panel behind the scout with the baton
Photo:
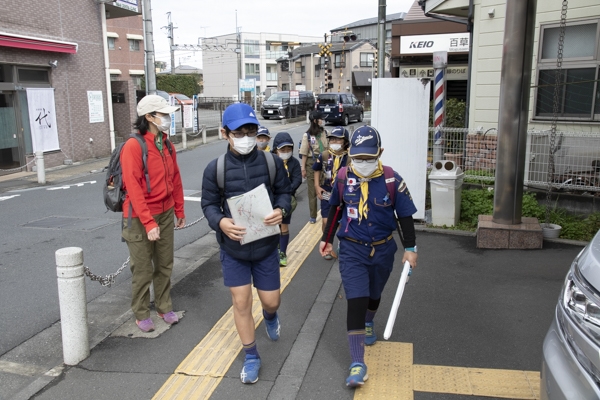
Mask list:
[[[371,117],[385,149],[381,160],[406,181],[416,219],[425,219],[429,85],[419,79],[373,80]]]

